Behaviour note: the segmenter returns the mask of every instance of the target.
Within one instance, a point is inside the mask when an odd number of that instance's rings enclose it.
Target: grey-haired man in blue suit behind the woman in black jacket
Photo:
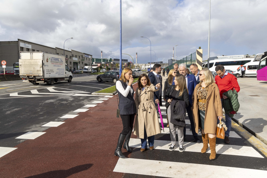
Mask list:
[[[191,129],[192,129],[192,134],[194,136],[194,139],[197,143],[200,143],[200,140],[198,139],[198,134],[195,131],[195,124],[194,124],[194,120],[193,120],[193,112],[191,110],[192,107],[192,96],[195,90],[195,87],[197,85],[197,81],[196,81],[196,77],[194,75],[191,74],[187,74],[186,72],[186,65],[184,63],[179,65],[179,72],[180,74],[185,76],[185,80],[186,80],[186,85],[187,85],[187,89],[188,89],[188,95],[189,95],[189,106],[186,108],[187,111],[187,115],[189,117],[190,120],[190,125],[191,125]],[[184,138],[185,138],[185,133],[186,129],[184,127]]]

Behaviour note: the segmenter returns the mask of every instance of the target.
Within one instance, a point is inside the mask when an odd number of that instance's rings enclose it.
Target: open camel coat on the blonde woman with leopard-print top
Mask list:
[[[199,84],[198,84],[199,85]],[[198,133],[198,122],[200,118],[198,118],[198,98],[197,98],[197,88],[194,90],[194,94],[192,96],[192,111],[193,111],[193,118],[195,123],[195,130]],[[204,132],[209,134],[216,133],[217,127],[217,119],[218,116],[223,116],[222,113],[222,103],[219,88],[215,83],[212,83],[209,86],[208,96],[207,96],[207,103],[206,103],[206,113],[205,113],[205,120],[204,120]],[[200,121],[201,122],[201,121]]]

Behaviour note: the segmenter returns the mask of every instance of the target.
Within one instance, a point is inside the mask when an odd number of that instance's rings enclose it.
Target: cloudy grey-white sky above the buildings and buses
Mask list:
[[[120,0],[0,0],[0,41],[24,39],[103,58],[120,57]],[[266,0],[211,0],[210,57],[267,50]],[[122,53],[167,62],[208,53],[209,0],[122,0]],[[152,51],[152,61],[155,53]],[[124,59],[130,59],[123,55]]]

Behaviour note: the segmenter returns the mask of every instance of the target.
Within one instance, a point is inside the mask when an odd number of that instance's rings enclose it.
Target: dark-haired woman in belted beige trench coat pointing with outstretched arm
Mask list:
[[[137,114],[134,123],[134,135],[141,139],[141,152],[147,149],[147,137],[150,150],[154,149],[156,134],[160,134],[157,110],[153,101],[154,92],[158,91],[160,83],[156,86],[150,83],[147,74],[141,74],[138,79],[138,88],[135,93]]]

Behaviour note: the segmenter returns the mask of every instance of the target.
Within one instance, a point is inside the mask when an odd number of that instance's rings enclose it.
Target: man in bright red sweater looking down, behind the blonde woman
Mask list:
[[[221,100],[222,98],[224,99],[228,98],[227,96],[222,95],[222,93],[226,91],[229,91],[229,90],[236,90],[237,92],[240,91],[237,78],[234,75],[225,71],[223,65],[216,66],[215,71],[218,74],[215,77],[215,83],[218,85],[218,88],[220,90]],[[224,142],[230,143],[229,134],[230,134],[231,126],[232,126],[232,118],[227,114],[225,114],[225,125],[227,127],[227,131],[225,131]]]

